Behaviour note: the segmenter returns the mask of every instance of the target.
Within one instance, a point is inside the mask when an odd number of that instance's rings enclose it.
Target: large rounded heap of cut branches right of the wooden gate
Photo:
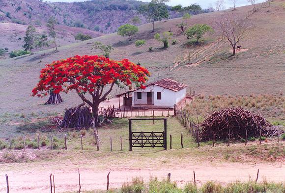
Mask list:
[[[259,114],[241,107],[213,112],[199,125],[200,141],[272,137],[283,130],[270,129],[272,125]]]

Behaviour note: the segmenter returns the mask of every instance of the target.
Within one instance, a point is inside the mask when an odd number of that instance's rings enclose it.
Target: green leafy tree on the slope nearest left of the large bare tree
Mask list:
[[[214,32],[213,29],[208,26],[207,24],[195,24],[191,28],[186,31],[187,39],[196,38],[198,43],[199,39],[206,33],[206,32]]]

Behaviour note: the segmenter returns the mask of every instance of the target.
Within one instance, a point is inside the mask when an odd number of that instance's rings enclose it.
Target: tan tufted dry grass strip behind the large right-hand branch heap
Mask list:
[[[249,96],[203,96],[199,95],[186,110],[192,117],[203,119],[212,111],[228,107],[244,107],[265,116],[273,125],[285,125],[285,96],[249,95]]]

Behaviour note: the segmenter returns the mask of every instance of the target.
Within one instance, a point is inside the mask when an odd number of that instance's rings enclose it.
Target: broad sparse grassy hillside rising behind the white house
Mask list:
[[[151,24],[140,26],[139,33],[133,41],[122,38],[115,33],[97,37],[80,43],[59,47],[59,52],[52,50],[45,57],[37,54],[0,61],[0,113],[1,119],[39,118],[55,112],[63,112],[68,106],[75,106],[80,99],[75,93],[62,95],[64,102],[55,106],[46,106],[43,103],[47,98],[31,97],[32,88],[38,81],[39,71],[44,64],[74,55],[88,55],[92,42],[100,41],[112,44],[113,59],[128,58],[140,62],[151,72],[150,81],[169,77],[183,82],[194,88],[197,94],[205,95],[247,95],[247,94],[280,94],[285,92],[285,2],[274,0],[271,11],[262,8],[254,12],[247,20],[252,24],[250,34],[240,44],[243,52],[235,57],[230,55],[230,46],[220,38],[214,26],[215,20],[225,12],[214,12],[195,15],[190,20],[190,25],[206,23],[211,25],[216,32],[206,35],[199,45],[189,44],[185,35],[177,34],[175,25],[181,18],[156,23],[156,32],[172,31],[175,45],[162,49],[161,42],[153,39]],[[237,14],[246,13],[251,6],[238,7]],[[145,39],[146,45],[136,48],[134,41]],[[215,42],[215,47],[213,47]],[[148,47],[153,47],[149,52]],[[199,52],[199,58],[194,64],[168,68],[181,61],[187,53]],[[101,54],[101,53],[96,53]],[[114,93],[113,93],[114,95]],[[24,119],[20,117],[25,115]],[[5,124],[5,121],[2,121]],[[14,126],[5,125],[5,128]]]

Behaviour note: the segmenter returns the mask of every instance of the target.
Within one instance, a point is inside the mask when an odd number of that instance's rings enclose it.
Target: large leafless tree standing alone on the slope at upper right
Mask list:
[[[250,26],[246,20],[239,15],[223,15],[217,21],[217,27],[221,30],[222,35],[228,40],[232,47],[232,55],[235,55],[236,45],[244,38]]]

